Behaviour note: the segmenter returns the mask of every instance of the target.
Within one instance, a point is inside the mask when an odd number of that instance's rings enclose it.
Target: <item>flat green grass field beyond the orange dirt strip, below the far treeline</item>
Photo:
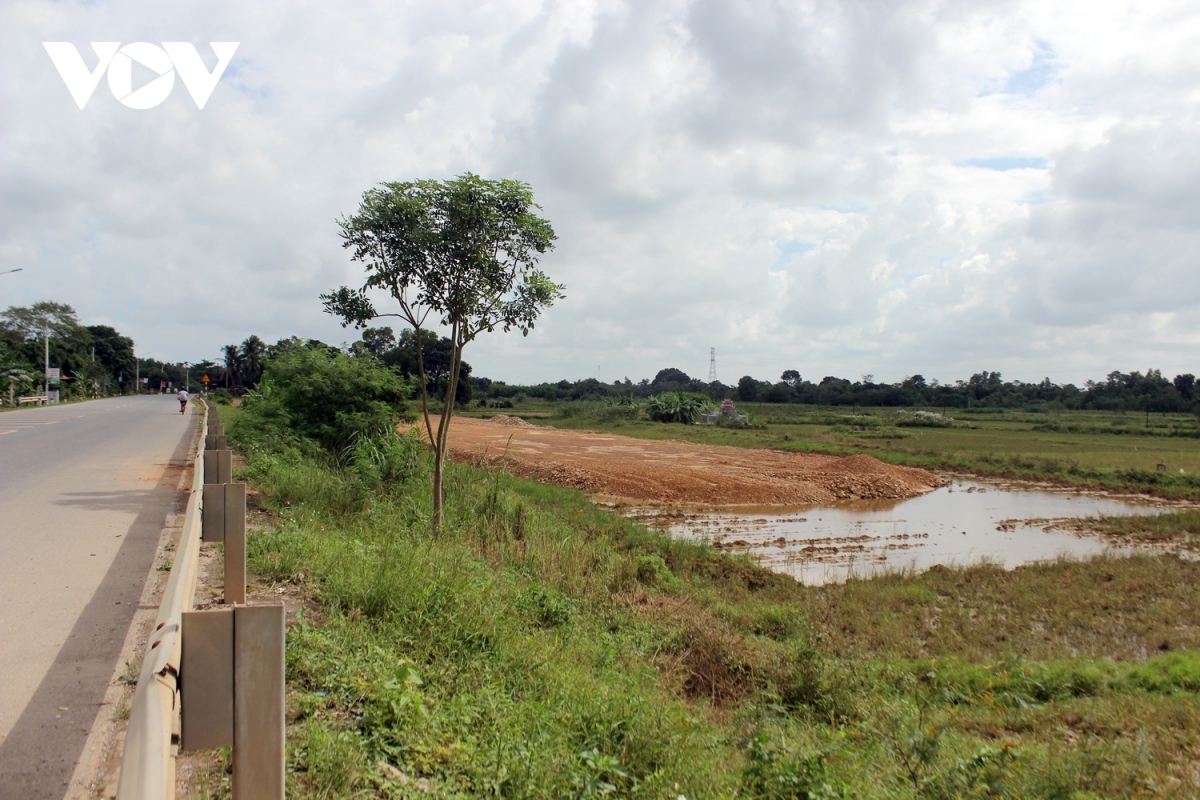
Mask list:
[[[586,403],[563,404],[557,413],[545,403],[529,403],[504,413],[534,423],[647,439],[839,456],[869,452],[906,467],[1200,500],[1200,423],[1187,414],[948,409],[950,425],[942,427],[920,425],[910,409],[742,403],[738,410],[749,411],[754,428],[613,419]]]

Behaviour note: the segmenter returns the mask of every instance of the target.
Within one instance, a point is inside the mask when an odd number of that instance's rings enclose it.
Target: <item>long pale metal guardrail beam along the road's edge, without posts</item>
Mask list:
[[[167,578],[154,632],[142,658],[125,733],[116,800],[173,800],[175,753],[179,746],[180,625],[196,600],[200,553],[200,499],[204,489],[204,441],[208,404],[200,417],[200,444],[196,453],[192,493],[184,513],[175,563]]]

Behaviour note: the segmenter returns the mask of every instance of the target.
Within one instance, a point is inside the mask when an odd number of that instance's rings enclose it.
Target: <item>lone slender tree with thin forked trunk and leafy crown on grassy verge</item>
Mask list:
[[[434,530],[442,524],[442,474],[463,348],[497,327],[528,336],[542,309],[563,296],[563,287],[536,269],[556,236],[535,211],[528,184],[467,173],[448,181],[380,184],[364,193],[356,213],[338,221],[343,247],[367,278],[359,289],[322,295],[325,311],[343,327],[396,317],[416,333],[421,413],[433,449]],[[376,311],[370,295],[380,290],[398,311]],[[421,348],[422,331],[434,324],[449,329],[451,348],[436,431]]]

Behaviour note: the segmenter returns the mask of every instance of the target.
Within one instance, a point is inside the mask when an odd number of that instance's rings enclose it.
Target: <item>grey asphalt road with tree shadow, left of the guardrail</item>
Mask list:
[[[197,417],[174,396],[0,414],[0,799],[61,799],[113,678]]]

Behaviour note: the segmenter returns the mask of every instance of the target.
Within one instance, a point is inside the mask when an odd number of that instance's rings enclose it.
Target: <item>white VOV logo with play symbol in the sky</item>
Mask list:
[[[95,70],[88,68],[79,50],[71,42],[42,42],[42,47],[50,54],[50,60],[54,61],[79,108],[91,100],[107,70],[108,88],[113,91],[113,96],[122,104],[138,109],[154,108],[167,100],[175,86],[176,72],[196,101],[196,107],[204,108],[240,42],[210,42],[210,44],[217,56],[217,66],[212,72],[204,66],[200,54],[191,42],[163,42],[162,47],[149,42],[133,42],[125,47],[121,47],[120,42],[92,42],[91,49],[100,59]],[[136,91],[134,61],[158,76]]]

